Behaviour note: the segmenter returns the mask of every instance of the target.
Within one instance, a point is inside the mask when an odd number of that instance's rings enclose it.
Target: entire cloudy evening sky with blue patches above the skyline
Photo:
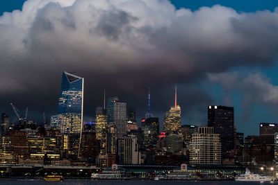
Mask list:
[[[85,78],[85,120],[107,96],[147,112],[174,105],[206,125],[207,105],[235,107],[238,132],[278,123],[278,1],[0,2],[0,112],[56,113],[62,71]]]

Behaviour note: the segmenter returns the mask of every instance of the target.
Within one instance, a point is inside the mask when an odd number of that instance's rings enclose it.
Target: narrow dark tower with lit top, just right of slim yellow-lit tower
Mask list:
[[[115,123],[108,124],[107,152],[111,155],[116,155],[117,153],[117,127]]]

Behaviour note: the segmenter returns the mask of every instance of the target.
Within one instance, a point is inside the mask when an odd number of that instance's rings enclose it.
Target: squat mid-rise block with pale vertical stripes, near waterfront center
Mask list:
[[[140,164],[141,155],[136,136],[128,135],[118,139],[117,155],[119,156],[119,164]]]

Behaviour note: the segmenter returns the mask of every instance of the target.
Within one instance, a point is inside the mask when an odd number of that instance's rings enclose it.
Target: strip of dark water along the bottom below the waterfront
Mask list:
[[[65,180],[64,182],[44,182],[42,179],[0,179],[0,185],[51,185],[51,184],[59,184],[59,185],[268,185],[268,184],[276,184],[278,182],[234,182],[234,181],[150,181],[150,180]]]

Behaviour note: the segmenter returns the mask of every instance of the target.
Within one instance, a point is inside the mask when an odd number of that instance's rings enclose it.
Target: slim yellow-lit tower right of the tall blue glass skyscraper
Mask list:
[[[101,154],[107,151],[107,117],[102,107],[96,109],[96,125],[97,139],[100,141]]]

